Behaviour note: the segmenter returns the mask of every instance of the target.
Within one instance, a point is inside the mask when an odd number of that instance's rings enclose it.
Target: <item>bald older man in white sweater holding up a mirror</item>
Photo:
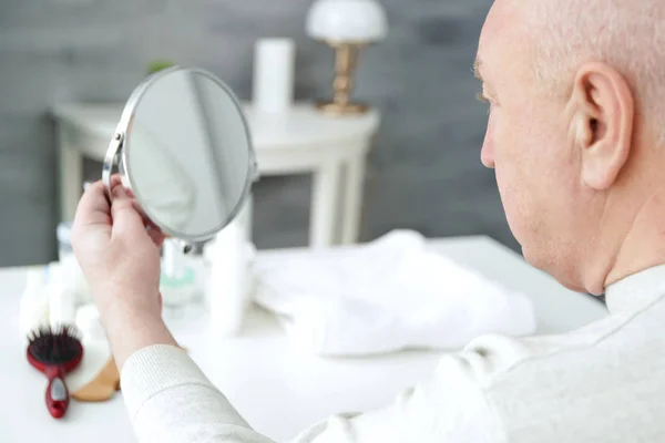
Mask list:
[[[498,0],[477,74],[492,167],[524,257],[605,293],[610,316],[556,337],[483,337],[385,408],[295,442],[665,441],[665,2]],[[141,442],[267,443],[161,319],[162,241],[120,187],[80,202],[74,248]],[[113,224],[111,224],[111,215]]]

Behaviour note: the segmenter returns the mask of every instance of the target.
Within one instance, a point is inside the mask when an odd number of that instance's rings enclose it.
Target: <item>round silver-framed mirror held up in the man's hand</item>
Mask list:
[[[102,171],[109,199],[115,165],[143,216],[185,251],[227,226],[258,179],[236,96],[209,72],[180,66],[152,74],[127,100]]]

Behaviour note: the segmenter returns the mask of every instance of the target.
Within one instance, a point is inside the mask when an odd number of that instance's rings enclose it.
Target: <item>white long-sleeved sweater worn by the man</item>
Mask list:
[[[331,416],[293,442],[663,442],[664,296],[665,266],[642,271],[607,289],[606,319],[562,336],[479,338],[391,404]],[[272,442],[177,348],[135,352],[122,390],[141,442]]]

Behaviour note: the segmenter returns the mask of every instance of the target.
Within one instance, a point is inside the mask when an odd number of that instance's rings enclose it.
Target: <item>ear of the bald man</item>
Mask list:
[[[634,100],[625,79],[604,63],[584,64],[576,73],[572,100],[582,181],[603,190],[625,165],[633,138]]]

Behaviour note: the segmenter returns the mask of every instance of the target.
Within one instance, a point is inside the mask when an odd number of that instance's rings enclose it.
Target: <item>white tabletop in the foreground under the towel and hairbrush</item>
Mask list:
[[[530,295],[540,322],[539,333],[569,331],[606,315],[598,301],[564,289],[487,237],[439,239],[432,240],[431,246],[488,278]],[[0,380],[4,395],[0,402],[0,440],[133,441],[121,394],[108,403],[73,402],[61,421],[48,415],[43,401],[45,379],[25,361],[23,340],[18,333],[23,280],[23,268],[0,271]],[[326,360],[296,352],[265,312],[252,311],[241,337],[215,339],[206,336],[205,321],[196,321],[201,319],[195,311],[171,322],[174,336],[256,430],[280,441],[332,413],[366,411],[391,402],[401,390],[427,377],[440,357],[440,352],[419,351]]]

